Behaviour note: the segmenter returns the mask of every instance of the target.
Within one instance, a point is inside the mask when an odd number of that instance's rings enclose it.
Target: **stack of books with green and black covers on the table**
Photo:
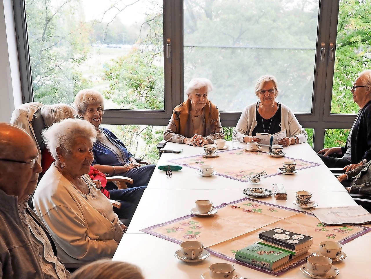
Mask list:
[[[235,259],[273,270],[307,253],[313,244],[312,236],[280,228],[262,232],[259,238],[262,240],[238,250]]]

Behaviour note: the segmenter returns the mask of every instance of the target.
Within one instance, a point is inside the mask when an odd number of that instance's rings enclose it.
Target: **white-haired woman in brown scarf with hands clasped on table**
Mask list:
[[[164,131],[165,141],[203,146],[224,138],[219,109],[208,99],[212,90],[206,78],[194,78],[188,83],[188,99],[174,108]]]

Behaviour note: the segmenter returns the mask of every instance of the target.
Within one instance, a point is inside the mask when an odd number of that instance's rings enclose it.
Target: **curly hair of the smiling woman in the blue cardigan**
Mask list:
[[[104,113],[104,98],[102,94],[95,89],[83,89],[76,94],[73,107],[79,114],[85,114],[86,108],[91,104],[101,105],[102,113]]]

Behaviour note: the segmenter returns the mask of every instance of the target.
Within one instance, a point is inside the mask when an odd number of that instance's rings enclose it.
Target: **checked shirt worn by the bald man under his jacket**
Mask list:
[[[35,250],[35,254],[39,259],[41,269],[45,279],[66,279],[70,273],[66,270],[62,262],[54,255],[52,244],[46,235],[43,227],[30,216],[27,212],[27,201],[24,199],[18,201],[18,210],[24,226],[26,234],[30,237]],[[30,210],[30,209],[29,209]],[[34,214],[35,217],[36,214]],[[40,221],[41,222],[41,221]]]

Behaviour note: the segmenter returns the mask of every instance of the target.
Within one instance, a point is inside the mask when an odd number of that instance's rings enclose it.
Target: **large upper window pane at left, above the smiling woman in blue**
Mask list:
[[[95,88],[105,108],[164,109],[162,1],[26,0],[35,101]]]

